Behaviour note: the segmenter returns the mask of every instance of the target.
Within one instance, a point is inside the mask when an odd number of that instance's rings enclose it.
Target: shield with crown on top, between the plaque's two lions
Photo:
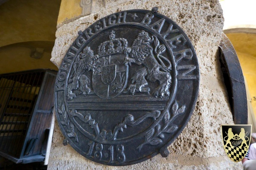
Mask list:
[[[110,41],[99,46],[99,58],[95,61],[92,76],[94,93],[103,99],[111,99],[122,93],[128,80],[128,65],[123,62],[125,54],[121,47],[113,48],[114,43],[127,45],[127,40],[114,39],[115,34],[113,31],[111,33]],[[108,51],[105,51],[107,47]]]

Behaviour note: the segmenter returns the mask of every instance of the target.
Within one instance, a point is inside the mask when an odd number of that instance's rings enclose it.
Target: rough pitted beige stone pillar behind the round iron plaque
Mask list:
[[[242,169],[241,163],[228,159],[221,141],[221,125],[233,124],[233,120],[218,60],[224,23],[218,0],[105,0],[105,8],[100,12],[58,28],[51,61],[59,66],[78,31],[99,18],[128,9],[151,10],[154,6],[189,36],[200,66],[200,90],[194,113],[180,136],[169,146],[170,155],[162,158],[158,154],[140,164],[125,167],[104,166],[85,159],[70,145],[63,146],[64,138],[55,123],[49,170]]]

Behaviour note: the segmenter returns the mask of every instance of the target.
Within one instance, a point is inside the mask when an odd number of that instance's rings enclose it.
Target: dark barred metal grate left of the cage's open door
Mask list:
[[[19,156],[44,72],[0,76],[0,151]]]

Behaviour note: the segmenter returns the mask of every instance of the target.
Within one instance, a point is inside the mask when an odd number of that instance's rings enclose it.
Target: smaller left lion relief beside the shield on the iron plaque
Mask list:
[[[98,58],[93,54],[90,47],[84,48],[83,52],[76,58],[73,69],[70,73],[70,77],[67,85],[67,99],[73,99],[76,94],[74,91],[78,90],[79,94],[89,94],[90,78],[84,75],[85,71],[94,70],[94,61]]]

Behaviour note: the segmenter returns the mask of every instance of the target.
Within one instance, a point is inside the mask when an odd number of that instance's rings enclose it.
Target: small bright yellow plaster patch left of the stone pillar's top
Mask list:
[[[81,17],[82,8],[80,6],[80,1],[81,0],[61,0],[57,25],[65,23],[70,19]]]

